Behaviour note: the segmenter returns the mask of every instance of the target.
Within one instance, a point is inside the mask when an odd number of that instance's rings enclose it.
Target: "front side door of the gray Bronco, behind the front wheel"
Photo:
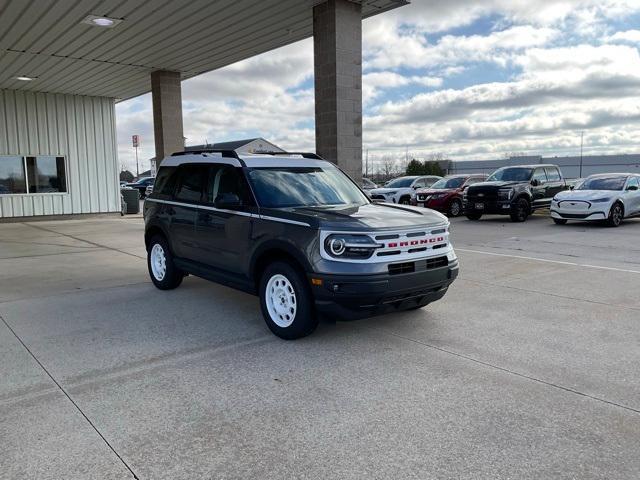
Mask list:
[[[216,199],[232,193],[237,207],[217,208]],[[250,248],[255,202],[242,169],[226,164],[208,167],[203,205],[196,220],[197,261],[232,273],[243,273]]]

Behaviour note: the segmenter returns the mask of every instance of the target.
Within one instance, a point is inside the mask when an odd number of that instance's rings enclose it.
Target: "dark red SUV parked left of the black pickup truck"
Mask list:
[[[421,188],[416,192],[414,205],[432,208],[450,217],[462,213],[462,193],[474,183],[484,182],[486,175],[448,175],[429,188]]]

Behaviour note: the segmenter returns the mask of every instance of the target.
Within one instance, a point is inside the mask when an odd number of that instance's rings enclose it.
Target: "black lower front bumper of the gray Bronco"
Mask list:
[[[311,278],[322,280],[311,287],[316,308],[341,320],[407,310],[439,300],[458,276],[457,259],[432,269],[426,261],[414,263],[422,269],[394,275],[309,274],[310,284]]]

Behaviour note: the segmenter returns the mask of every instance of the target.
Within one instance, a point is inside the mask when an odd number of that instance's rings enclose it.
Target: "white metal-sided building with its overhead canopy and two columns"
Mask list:
[[[316,149],[362,175],[362,19],[406,0],[0,2],[0,218],[118,212],[115,103],[151,92],[183,149],[181,81],[312,36]]]

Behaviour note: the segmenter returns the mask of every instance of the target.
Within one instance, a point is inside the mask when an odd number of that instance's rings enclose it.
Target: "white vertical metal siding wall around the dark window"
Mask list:
[[[0,195],[0,218],[120,210],[115,102],[0,90],[0,155],[62,155],[67,193]]]

